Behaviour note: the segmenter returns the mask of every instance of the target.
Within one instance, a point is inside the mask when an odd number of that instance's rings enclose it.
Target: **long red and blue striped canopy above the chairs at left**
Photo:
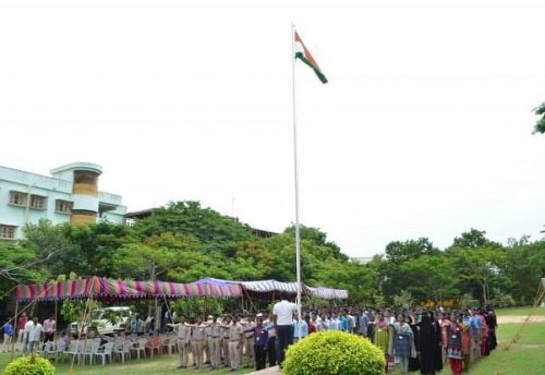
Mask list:
[[[240,287],[209,288],[196,283],[166,282],[159,280],[116,280],[90,277],[80,280],[50,281],[35,285],[19,285],[16,298],[25,301],[59,301],[86,299],[116,301],[145,298],[184,298],[184,297],[237,297]]]

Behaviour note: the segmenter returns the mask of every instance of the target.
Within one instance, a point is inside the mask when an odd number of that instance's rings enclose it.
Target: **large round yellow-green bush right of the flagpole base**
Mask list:
[[[367,339],[338,330],[312,334],[286,351],[286,375],[382,375],[384,353]]]

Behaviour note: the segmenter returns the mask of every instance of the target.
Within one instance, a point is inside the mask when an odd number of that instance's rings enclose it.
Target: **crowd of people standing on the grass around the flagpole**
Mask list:
[[[268,364],[282,365],[286,349],[316,331],[341,330],[371,340],[384,353],[385,372],[399,366],[403,374],[420,371],[435,374],[448,361],[453,375],[460,375],[480,358],[496,348],[497,320],[493,310],[462,309],[444,311],[404,309],[304,309],[298,318],[294,303],[282,300],[272,311],[257,314],[209,315],[189,323],[184,316],[172,316],[164,325],[175,337],[180,363],[201,370],[241,366],[263,370]],[[133,316],[129,336],[153,334],[154,317],[142,320]],[[40,324],[37,317],[22,314],[13,327],[3,325],[3,351],[11,350],[12,339],[23,354],[36,351],[40,343],[52,341],[57,331],[55,318]],[[70,336],[63,332],[60,341],[68,344]],[[124,335],[123,335],[124,336]],[[191,354],[191,355],[190,355]]]

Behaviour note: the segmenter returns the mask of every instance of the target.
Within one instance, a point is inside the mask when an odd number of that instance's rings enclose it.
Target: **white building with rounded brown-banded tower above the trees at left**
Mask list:
[[[126,207],[121,195],[98,191],[101,172],[90,162],[52,169],[51,177],[0,166],[0,239],[21,239],[25,223],[43,218],[53,225],[122,223]]]

